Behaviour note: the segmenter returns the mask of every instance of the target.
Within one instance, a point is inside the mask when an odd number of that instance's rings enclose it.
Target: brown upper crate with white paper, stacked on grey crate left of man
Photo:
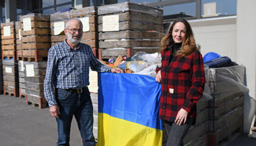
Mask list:
[[[50,16],[32,13],[20,17],[22,60],[40,62],[51,48]]]

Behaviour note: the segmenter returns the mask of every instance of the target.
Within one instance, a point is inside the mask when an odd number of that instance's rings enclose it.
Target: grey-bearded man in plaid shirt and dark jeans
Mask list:
[[[50,48],[44,80],[44,95],[49,102],[50,113],[57,119],[57,145],[69,145],[73,115],[82,136],[83,145],[95,145],[93,109],[89,84],[89,66],[97,72],[123,70],[101,64],[90,46],[79,43],[83,25],[79,19],[69,19],[64,29],[67,40]]]

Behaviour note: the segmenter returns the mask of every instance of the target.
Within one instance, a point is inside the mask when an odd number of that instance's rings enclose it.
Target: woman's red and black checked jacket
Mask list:
[[[181,108],[189,113],[188,117],[196,117],[195,103],[201,98],[205,85],[203,58],[200,52],[193,52],[172,60],[171,48],[161,53],[162,67],[158,68],[162,78],[159,117],[174,121]]]

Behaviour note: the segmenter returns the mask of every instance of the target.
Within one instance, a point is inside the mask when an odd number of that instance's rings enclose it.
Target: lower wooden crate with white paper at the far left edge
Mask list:
[[[17,60],[2,60],[3,62],[3,94],[19,96],[19,74]]]

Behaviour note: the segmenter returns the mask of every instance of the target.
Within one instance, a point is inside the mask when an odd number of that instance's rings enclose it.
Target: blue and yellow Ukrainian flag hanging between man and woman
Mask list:
[[[98,146],[162,145],[161,86],[151,76],[101,73]]]

